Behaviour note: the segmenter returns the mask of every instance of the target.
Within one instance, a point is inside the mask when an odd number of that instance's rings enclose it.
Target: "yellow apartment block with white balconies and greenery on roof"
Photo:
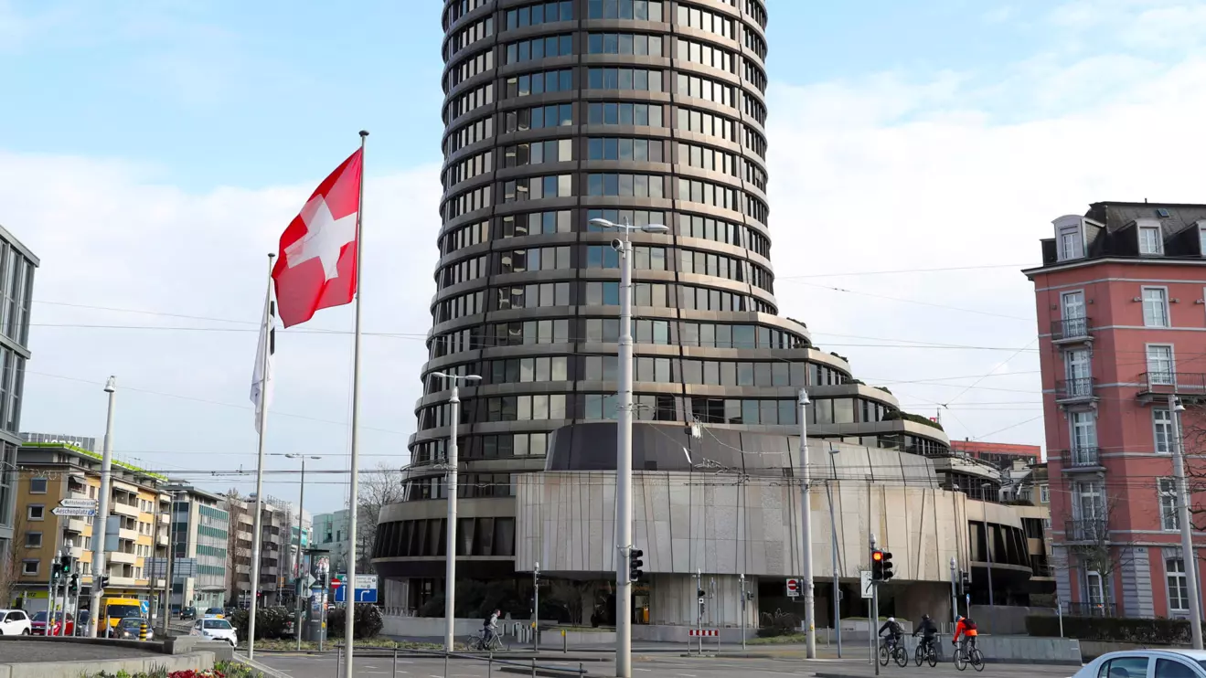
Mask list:
[[[52,558],[60,550],[78,560],[83,594],[92,590],[93,527],[98,518],[59,518],[53,509],[64,499],[99,499],[100,454],[63,443],[24,443],[17,450],[21,482],[17,496],[19,561],[13,597],[27,609],[46,609]],[[152,559],[168,555],[170,495],[166,478],[113,460],[110,515],[116,521],[116,549],[109,552],[106,592],[158,600],[166,583],[154,578]],[[69,548],[70,543],[70,548]]]

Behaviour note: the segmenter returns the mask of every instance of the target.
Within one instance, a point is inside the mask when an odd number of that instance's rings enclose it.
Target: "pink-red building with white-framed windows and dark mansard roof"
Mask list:
[[[1053,224],[1025,275],[1060,600],[1065,612],[1185,617],[1171,453],[1175,418],[1189,443],[1206,428],[1206,205],[1095,202]],[[1195,533],[1190,564],[1204,546]]]

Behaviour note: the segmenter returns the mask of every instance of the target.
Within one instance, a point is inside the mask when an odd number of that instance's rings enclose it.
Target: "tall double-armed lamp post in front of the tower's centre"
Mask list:
[[[632,676],[632,582],[628,580],[628,554],[632,550],[632,231],[665,234],[662,224],[633,226],[608,219],[591,219],[601,229],[616,229],[624,238],[611,241],[620,253],[620,402],[615,461],[615,546],[620,558],[615,565],[615,674]]]

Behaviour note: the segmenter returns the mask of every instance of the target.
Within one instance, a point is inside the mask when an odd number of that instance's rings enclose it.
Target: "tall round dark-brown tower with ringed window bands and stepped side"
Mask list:
[[[778,314],[766,19],[760,0],[445,2],[429,359],[405,499],[381,512],[374,547],[376,571],[405,582],[408,605],[445,586],[440,465],[451,394],[435,372],[484,377],[461,388],[456,552],[466,578],[531,579],[519,524],[522,488],[538,483],[529,474],[609,464],[614,473],[607,421],[616,413],[620,295],[630,290],[611,247],[620,234],[591,219],[669,228],[631,236],[639,471],[689,473],[721,464],[726,446],[751,454],[722,464],[765,467],[750,460],[773,441],[767,472],[783,477],[803,387],[810,436],[949,453],[941,428],[902,413]],[[678,461],[656,456],[667,441]],[[611,555],[582,577],[605,579]],[[769,561],[766,574],[786,567]]]

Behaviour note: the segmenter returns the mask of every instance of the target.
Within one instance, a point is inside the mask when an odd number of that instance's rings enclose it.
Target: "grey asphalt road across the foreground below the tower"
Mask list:
[[[257,654],[260,664],[281,671],[293,678],[332,678],[336,676],[335,656],[298,656]],[[527,661],[522,662],[528,665]],[[556,658],[538,660],[538,666],[560,666],[578,668],[578,662],[557,661]],[[589,676],[615,676],[615,665],[608,661],[582,662]],[[971,668],[960,672],[947,662],[935,668],[908,666],[898,668],[892,665],[880,670],[883,678],[1067,678],[1076,670],[1065,666],[1035,665],[989,665],[983,673]],[[487,667],[484,661],[452,659],[449,660],[447,673],[444,672],[443,659],[398,659],[397,673],[390,656],[358,656],[356,659],[358,677],[403,677],[403,678],[486,678],[487,676],[505,676],[498,666]],[[633,678],[781,678],[784,676],[816,676],[818,678],[866,678],[874,676],[874,667],[866,660],[800,660],[800,659],[727,659],[727,658],[684,658],[673,654],[634,655]]]

